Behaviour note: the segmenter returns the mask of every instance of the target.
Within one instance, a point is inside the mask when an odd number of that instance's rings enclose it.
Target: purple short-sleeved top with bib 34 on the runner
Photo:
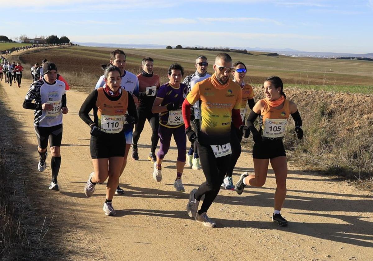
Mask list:
[[[157,98],[162,98],[163,101],[160,104],[160,106],[167,106],[170,103],[176,103],[179,105],[178,109],[181,111],[181,106],[184,102],[184,99],[186,97],[186,94],[188,92],[188,87],[185,84],[180,84],[180,87],[178,89],[173,88],[169,83],[163,84],[161,87],[159,87],[159,90],[157,92]],[[176,117],[176,116],[175,116]],[[176,124],[175,122],[180,121],[180,124]],[[173,119],[172,124],[168,124],[169,122],[169,112],[165,111],[159,114],[159,124],[168,128],[178,128],[181,125],[184,125],[184,121],[181,119]]]

